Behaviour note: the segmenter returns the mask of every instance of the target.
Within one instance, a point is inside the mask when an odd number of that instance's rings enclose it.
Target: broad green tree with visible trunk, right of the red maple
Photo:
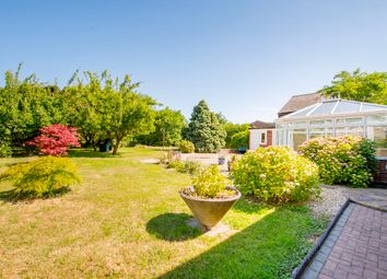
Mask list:
[[[124,139],[153,131],[156,102],[137,91],[140,83],[132,82],[129,75],[119,82],[107,71],[87,71],[84,75],[85,82],[75,73],[63,96],[68,119],[80,128],[86,143],[95,147],[101,139],[114,139],[116,154]]]

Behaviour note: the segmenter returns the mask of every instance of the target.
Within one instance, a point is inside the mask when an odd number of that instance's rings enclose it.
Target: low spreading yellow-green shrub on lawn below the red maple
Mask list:
[[[13,165],[0,181],[12,181],[16,194],[30,197],[52,196],[81,182],[70,159],[52,156]]]

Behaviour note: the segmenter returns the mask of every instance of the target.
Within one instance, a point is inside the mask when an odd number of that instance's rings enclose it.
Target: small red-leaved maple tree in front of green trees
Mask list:
[[[46,155],[64,156],[70,147],[81,146],[77,128],[55,124],[40,128],[39,131],[42,135],[26,144],[38,148]]]

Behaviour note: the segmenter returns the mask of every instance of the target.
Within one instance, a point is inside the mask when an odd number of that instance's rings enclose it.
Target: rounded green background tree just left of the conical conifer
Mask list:
[[[153,132],[138,137],[137,142],[149,146],[177,146],[187,124],[180,111],[165,107],[156,112],[154,126]]]

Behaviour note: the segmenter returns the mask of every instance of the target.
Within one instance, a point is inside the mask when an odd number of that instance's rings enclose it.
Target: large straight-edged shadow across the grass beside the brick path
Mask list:
[[[318,230],[316,222],[279,208],[159,278],[290,278],[312,246],[306,239]]]

